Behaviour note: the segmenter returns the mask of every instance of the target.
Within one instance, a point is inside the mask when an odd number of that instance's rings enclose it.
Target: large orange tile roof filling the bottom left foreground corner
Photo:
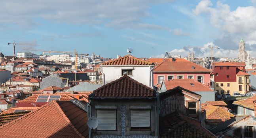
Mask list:
[[[89,138],[87,113],[71,102],[52,101],[4,125],[0,137]]]

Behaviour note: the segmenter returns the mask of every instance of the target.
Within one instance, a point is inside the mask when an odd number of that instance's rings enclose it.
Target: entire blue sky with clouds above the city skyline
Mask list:
[[[163,57],[237,57],[256,48],[256,0],[1,0],[0,51],[40,50]],[[215,49],[220,47],[220,49]],[[36,54],[43,54],[36,52]]]

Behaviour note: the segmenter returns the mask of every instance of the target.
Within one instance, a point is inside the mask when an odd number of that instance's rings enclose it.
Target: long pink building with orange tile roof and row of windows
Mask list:
[[[151,58],[149,62],[156,63],[154,69],[154,85],[161,84],[164,80],[194,79],[210,86],[210,71],[183,58]]]

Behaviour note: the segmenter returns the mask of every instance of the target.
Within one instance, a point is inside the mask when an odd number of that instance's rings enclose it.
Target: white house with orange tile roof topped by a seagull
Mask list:
[[[134,80],[153,88],[154,63],[140,60],[127,54],[101,65],[102,84],[108,84],[127,74]]]

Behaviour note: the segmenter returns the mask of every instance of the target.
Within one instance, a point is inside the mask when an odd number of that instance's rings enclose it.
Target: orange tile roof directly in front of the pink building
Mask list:
[[[180,86],[186,90],[190,91],[213,91],[209,86],[202,84],[194,79],[173,79],[163,82],[166,90],[170,90]],[[191,85],[193,84],[193,85]]]

